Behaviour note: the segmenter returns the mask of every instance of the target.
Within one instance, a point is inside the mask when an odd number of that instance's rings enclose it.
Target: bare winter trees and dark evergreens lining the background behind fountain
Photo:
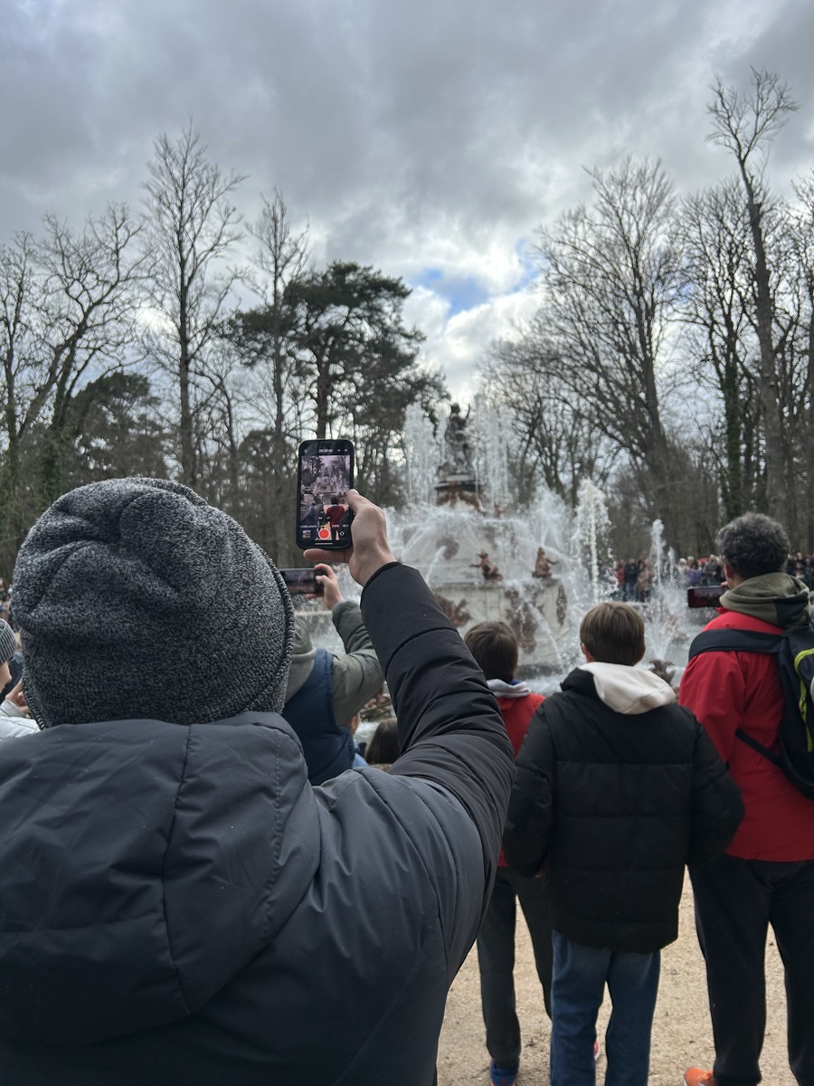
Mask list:
[[[767,168],[796,109],[774,73],[717,79],[707,136],[730,177],[679,193],[657,159],[626,157],[538,227],[536,315],[472,358],[475,419],[498,420],[508,465],[488,508],[522,512],[542,488],[574,505],[589,479],[622,556],[657,517],[704,554],[747,509],[814,551],[814,169],[780,197]],[[122,475],[185,482],[295,564],[295,450],[313,435],[355,441],[373,501],[431,496],[412,467],[449,396],[405,321],[409,288],[317,266],[277,190],[245,223],[244,180],[190,123],[155,140],[139,209],[49,214],[0,245],[0,576],[50,502]]]

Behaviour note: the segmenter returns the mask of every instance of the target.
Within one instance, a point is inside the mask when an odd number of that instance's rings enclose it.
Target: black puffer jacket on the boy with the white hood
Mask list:
[[[522,874],[546,864],[555,931],[648,954],[677,938],[685,864],[722,853],[743,806],[691,712],[629,712],[580,668],[546,698],[518,758],[504,849]]]

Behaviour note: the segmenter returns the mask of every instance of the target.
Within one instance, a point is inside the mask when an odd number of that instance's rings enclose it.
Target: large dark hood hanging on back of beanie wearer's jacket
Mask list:
[[[87,1044],[183,1019],[271,939],[319,863],[275,715],[128,720],[0,746],[0,1035]]]

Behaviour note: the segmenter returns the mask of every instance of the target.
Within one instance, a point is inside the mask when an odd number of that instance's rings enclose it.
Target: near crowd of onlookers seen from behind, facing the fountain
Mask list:
[[[646,1086],[688,868],[716,1058],[687,1086],[761,1081],[770,924],[790,1065],[814,1084],[814,803],[761,753],[784,712],[775,659],[716,643],[678,692],[639,667],[649,563],[631,560],[544,698],[512,629],[462,640],[382,512],[346,498],[353,545],[306,552],[338,653],[179,484],[93,483],[29,532],[15,631],[0,621],[3,1081],[431,1086],[476,942],[491,1083],[513,1086],[519,901],[552,1086],[594,1086],[606,988],[606,1084]],[[806,561],[776,521],[741,517],[718,550],[676,571],[725,582],[708,629],[807,626]],[[383,683],[394,716],[365,749]]]

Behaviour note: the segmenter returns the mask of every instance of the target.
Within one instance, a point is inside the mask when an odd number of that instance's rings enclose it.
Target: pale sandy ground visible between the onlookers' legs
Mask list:
[[[514,984],[523,1032],[518,1086],[543,1086],[548,1082],[549,1022],[543,1009],[529,933],[519,910]],[[768,1021],[762,1058],[764,1081],[772,1086],[794,1086],[786,1055],[783,968],[771,931],[766,947],[766,985]],[[488,1053],[484,1045],[480,998],[478,956],[473,948],[449,993],[438,1047],[438,1086],[488,1084]],[[599,1018],[600,1038],[609,1012],[606,999]],[[687,881],[678,939],[666,947],[661,957],[650,1083],[652,1086],[682,1086],[685,1069],[694,1065],[710,1068],[713,1055],[703,959],[696,940],[692,897]],[[601,1083],[603,1077],[605,1060],[600,1057],[597,1082]]]

